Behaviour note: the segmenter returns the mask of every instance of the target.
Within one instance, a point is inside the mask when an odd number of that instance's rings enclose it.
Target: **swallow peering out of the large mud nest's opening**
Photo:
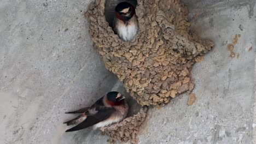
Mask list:
[[[131,41],[138,33],[138,19],[132,4],[121,2],[115,7],[114,32],[124,41]]]

